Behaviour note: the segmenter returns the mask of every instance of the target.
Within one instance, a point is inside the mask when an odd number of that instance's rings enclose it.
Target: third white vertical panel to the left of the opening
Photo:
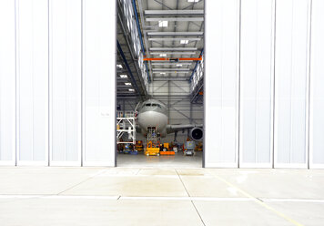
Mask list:
[[[48,164],[48,5],[17,1],[18,165]]]

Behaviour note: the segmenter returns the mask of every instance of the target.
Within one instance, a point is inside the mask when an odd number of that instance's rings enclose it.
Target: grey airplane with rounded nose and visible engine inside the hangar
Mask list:
[[[169,133],[176,133],[177,131],[188,130],[188,135],[191,139],[199,141],[203,139],[203,126],[202,125],[170,125],[167,124],[167,107],[161,101],[157,99],[147,99],[144,102],[139,102],[137,108],[137,132],[141,132],[144,136],[147,136],[147,127],[156,127],[157,134],[161,138],[165,138]],[[175,137],[176,139],[176,137]]]

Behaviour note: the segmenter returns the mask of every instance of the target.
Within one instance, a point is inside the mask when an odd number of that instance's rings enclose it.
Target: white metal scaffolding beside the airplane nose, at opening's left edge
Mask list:
[[[116,139],[117,144],[136,144],[137,123],[134,111],[117,111],[116,118]],[[128,140],[124,141],[123,135],[128,134]]]

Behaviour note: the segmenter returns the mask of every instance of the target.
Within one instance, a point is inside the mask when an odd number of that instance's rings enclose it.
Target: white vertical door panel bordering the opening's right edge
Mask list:
[[[205,166],[238,167],[239,1],[205,7]]]

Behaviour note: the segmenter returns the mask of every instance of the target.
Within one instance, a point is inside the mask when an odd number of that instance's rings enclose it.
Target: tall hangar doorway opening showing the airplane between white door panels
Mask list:
[[[116,8],[116,165],[202,167],[204,1]]]

